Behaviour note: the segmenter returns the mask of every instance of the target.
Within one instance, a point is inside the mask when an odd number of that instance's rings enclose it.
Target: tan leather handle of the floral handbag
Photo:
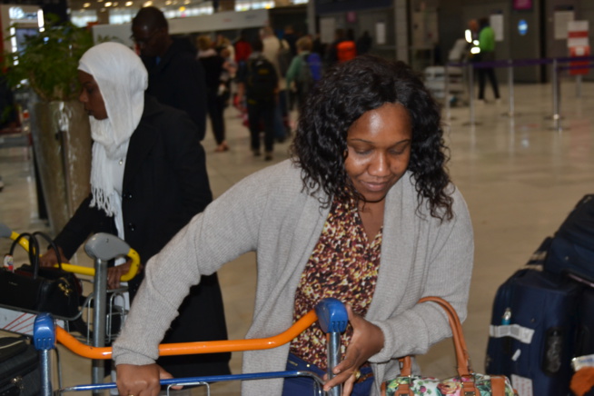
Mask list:
[[[468,348],[466,346],[466,341],[464,340],[464,334],[462,332],[462,326],[460,324],[460,318],[458,317],[458,314],[450,305],[450,302],[446,302],[440,297],[423,297],[421,300],[419,300],[419,303],[421,302],[436,302],[448,315],[448,321],[450,322],[452,338],[454,341],[454,349],[456,351],[456,369],[458,371],[458,375],[460,377],[470,376],[472,373],[472,369],[470,368],[470,357]],[[401,375],[410,376],[412,373],[411,357],[405,356],[401,359],[401,362]]]

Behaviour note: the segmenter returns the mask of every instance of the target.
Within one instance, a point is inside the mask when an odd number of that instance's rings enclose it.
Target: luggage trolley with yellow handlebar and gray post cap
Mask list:
[[[17,239],[18,234],[12,232],[5,224],[0,223],[0,236]],[[28,251],[29,243],[21,238],[18,243]],[[107,290],[107,262],[118,257],[126,256],[132,260],[130,271],[125,273],[121,280],[127,282],[134,278],[140,267],[140,256],[134,249],[120,238],[109,233],[96,233],[84,244],[84,251],[94,260],[94,268],[83,267],[69,263],[62,263],[64,271],[88,275],[94,278],[94,291],[86,297],[81,310],[72,318],[56,317],[59,325],[68,328],[68,322],[81,317],[84,308],[87,312],[87,323],[91,323],[93,333],[87,327],[86,342],[94,347],[104,347],[106,343],[112,342],[117,334],[114,334],[112,323],[116,315],[121,316],[120,322],[124,322],[125,309],[117,310],[114,307],[116,297],[122,296],[126,288]],[[56,265],[57,266],[57,265]],[[109,302],[107,296],[109,295]],[[90,315],[93,312],[93,318]],[[5,319],[6,323],[0,322],[0,328],[10,332],[18,332],[28,336],[33,335],[33,323],[35,316],[40,312],[33,312],[21,308],[0,305],[0,320]],[[119,328],[116,330],[119,332]],[[104,377],[104,361],[94,360],[92,368],[92,381],[97,383]],[[59,376],[60,377],[60,376]]]

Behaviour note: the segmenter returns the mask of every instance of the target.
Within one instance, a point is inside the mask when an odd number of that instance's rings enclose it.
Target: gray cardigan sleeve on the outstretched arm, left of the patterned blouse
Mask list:
[[[190,287],[202,275],[256,249],[262,208],[270,195],[267,186],[273,188],[274,174],[264,170],[234,185],[147,262],[144,282],[114,342],[116,364],[153,363]]]

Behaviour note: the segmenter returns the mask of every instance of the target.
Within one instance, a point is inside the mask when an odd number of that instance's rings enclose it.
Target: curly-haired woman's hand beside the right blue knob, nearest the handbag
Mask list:
[[[332,387],[344,383],[342,396],[351,394],[359,368],[371,356],[381,351],[384,341],[383,332],[378,326],[352,312],[351,305],[347,304],[346,309],[353,330],[351,343],[347,347],[344,360],[334,367],[335,377],[324,384],[324,391],[330,391]]]

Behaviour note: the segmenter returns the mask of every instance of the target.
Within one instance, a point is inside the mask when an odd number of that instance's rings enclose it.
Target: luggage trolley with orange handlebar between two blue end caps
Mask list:
[[[322,300],[315,310],[308,312],[299,321],[293,323],[287,331],[276,336],[264,339],[252,340],[234,340],[234,341],[216,341],[216,342],[180,342],[161,344],[159,346],[160,356],[197,354],[197,353],[216,353],[223,351],[255,351],[276,348],[299,335],[303,330],[318,320],[322,331],[328,334],[328,375],[332,378],[334,374],[332,369],[336,367],[340,360],[341,333],[346,330],[348,315],[342,302],[328,298]],[[40,353],[40,372],[41,372],[41,396],[52,396],[54,394],[63,394],[64,392],[74,391],[105,391],[115,389],[114,382],[94,383],[88,385],[76,385],[72,387],[58,389],[53,391],[51,382],[50,351],[55,348],[55,343],[62,343],[67,349],[74,353],[94,359],[110,359],[112,356],[111,348],[92,348],[78,342],[74,337],[65,332],[64,329],[56,327],[52,315],[43,313],[35,319],[34,343],[35,348]],[[316,386],[315,394],[322,396],[340,396],[342,394],[342,385],[335,386],[329,392],[322,391],[322,378],[311,371],[272,371],[256,372],[246,374],[232,375],[214,375],[206,377],[177,378],[171,380],[161,380],[162,386],[169,388],[174,385],[203,385],[206,386],[207,394],[210,395],[209,382],[220,381],[250,381],[250,380],[268,380],[274,378],[289,377],[309,377],[312,378]]]

